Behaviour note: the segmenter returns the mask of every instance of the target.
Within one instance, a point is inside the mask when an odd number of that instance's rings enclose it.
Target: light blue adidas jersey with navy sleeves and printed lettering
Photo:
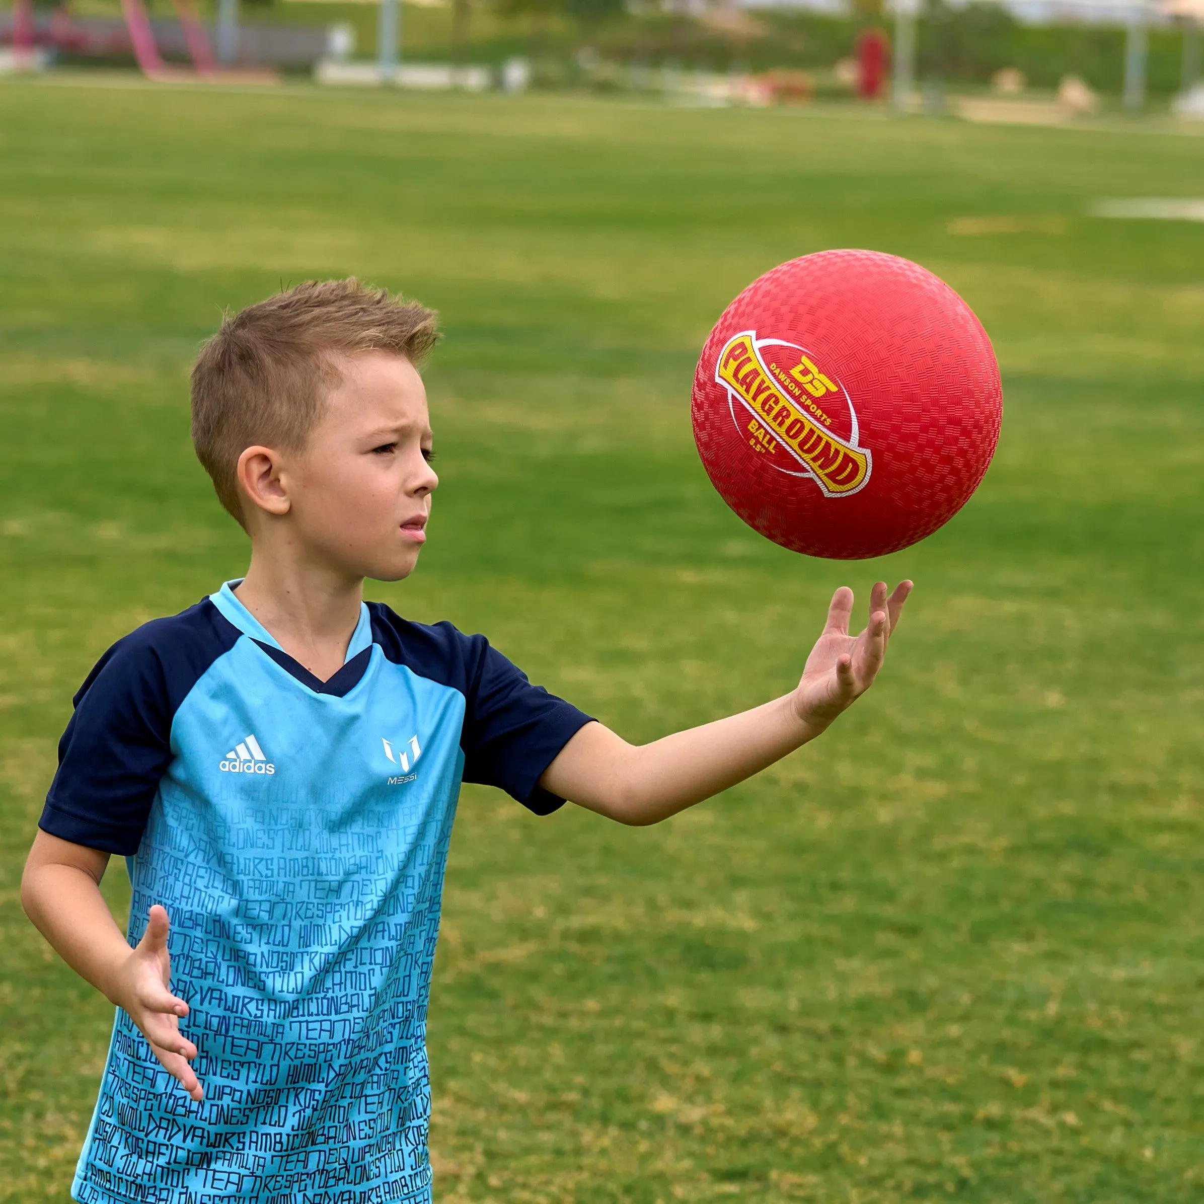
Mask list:
[[[235,583],[236,584],[236,583]],[[205,1099],[118,1010],[84,1204],[427,1200],[426,1003],[461,780],[538,814],[589,716],[482,636],[365,603],[320,681],[224,586],[110,649],[41,827],[129,858],[171,919]]]

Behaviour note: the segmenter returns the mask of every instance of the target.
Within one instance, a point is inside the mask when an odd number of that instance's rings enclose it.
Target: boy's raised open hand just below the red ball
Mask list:
[[[795,714],[816,734],[874,684],[910,592],[911,583],[901,582],[887,597],[886,583],[879,582],[869,592],[869,626],[860,636],[849,635],[852,590],[842,585],[832,596],[824,633],[791,700]]]

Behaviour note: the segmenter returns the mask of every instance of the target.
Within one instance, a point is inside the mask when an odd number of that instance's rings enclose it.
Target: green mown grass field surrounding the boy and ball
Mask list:
[[[371,596],[628,738],[787,690],[836,585],[917,583],[873,695],[692,813],[465,791],[438,1199],[1200,1198],[1204,225],[1085,214],[1204,195],[1202,146],[4,83],[0,1200],[66,1199],[111,1025],[17,899],[71,695],[247,555],[189,447],[191,356],[223,307],[350,272],[447,331],[432,538]],[[840,246],[943,275],[1005,383],[976,497],[875,563],[746,530],[690,435],[726,302]]]

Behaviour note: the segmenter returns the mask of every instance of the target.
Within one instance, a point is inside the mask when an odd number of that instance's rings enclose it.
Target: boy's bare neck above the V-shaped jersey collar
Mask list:
[[[314,677],[326,681],[343,667],[360,621],[362,577],[253,548],[247,576],[234,592]]]

